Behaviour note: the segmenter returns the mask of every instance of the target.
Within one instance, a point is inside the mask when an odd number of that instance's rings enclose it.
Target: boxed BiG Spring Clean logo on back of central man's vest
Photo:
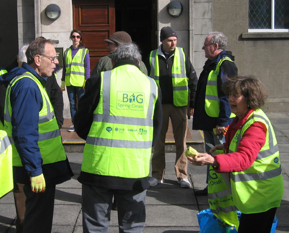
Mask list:
[[[118,92],[117,109],[121,110],[140,110],[143,111],[144,94],[137,92]]]

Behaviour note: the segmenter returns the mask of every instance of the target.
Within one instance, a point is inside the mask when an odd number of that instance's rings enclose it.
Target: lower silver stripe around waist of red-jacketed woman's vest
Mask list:
[[[230,178],[234,182],[243,182],[243,181],[263,181],[268,180],[274,177],[277,177],[281,174],[281,167],[270,171],[264,171],[259,173],[246,173],[246,174],[233,174],[230,173]]]

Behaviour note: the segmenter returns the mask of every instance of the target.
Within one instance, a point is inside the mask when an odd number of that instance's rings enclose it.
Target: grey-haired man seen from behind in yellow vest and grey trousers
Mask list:
[[[113,53],[111,71],[92,76],[74,115],[86,140],[80,176],[83,232],[108,232],[112,197],[120,232],[142,232],[152,147],[161,128],[161,92],[140,71],[133,43]]]

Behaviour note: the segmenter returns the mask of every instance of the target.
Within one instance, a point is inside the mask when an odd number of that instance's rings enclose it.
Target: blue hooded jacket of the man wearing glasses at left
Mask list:
[[[22,67],[16,67],[11,72],[1,75],[0,84],[7,86],[14,77],[26,71],[31,72],[45,87],[46,79],[38,75],[26,63],[23,63]],[[39,111],[43,107],[43,101],[36,82],[30,78],[20,79],[13,86],[10,98],[12,104],[12,137],[23,165],[23,167],[13,167],[14,180],[23,184],[30,183],[30,177],[39,176],[41,173],[44,174],[48,184],[59,184],[69,180],[71,170],[68,161],[42,166],[42,158],[38,147],[38,118]],[[17,101],[13,102],[16,98]],[[28,176],[23,176],[25,173]]]

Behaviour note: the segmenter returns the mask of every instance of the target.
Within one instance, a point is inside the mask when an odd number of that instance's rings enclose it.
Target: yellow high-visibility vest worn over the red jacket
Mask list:
[[[261,109],[254,110],[242,129],[237,130],[229,145],[229,153],[237,152],[244,132],[254,122],[262,122],[266,126],[266,142],[251,167],[230,173],[235,205],[245,214],[279,207],[284,192],[276,136],[270,120]]]

